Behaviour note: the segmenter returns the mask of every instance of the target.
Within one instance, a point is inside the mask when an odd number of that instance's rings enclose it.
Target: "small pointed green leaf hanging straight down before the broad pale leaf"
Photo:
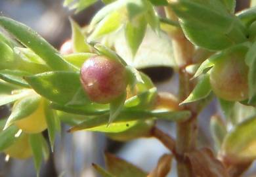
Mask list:
[[[142,43],[146,33],[146,26],[147,24],[144,18],[137,18],[136,22],[135,20],[133,22],[127,22],[125,26],[125,37],[133,56],[135,56]]]

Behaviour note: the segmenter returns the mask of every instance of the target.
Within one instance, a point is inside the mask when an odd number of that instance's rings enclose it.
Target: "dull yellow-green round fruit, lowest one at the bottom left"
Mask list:
[[[32,149],[30,146],[29,138],[27,134],[22,134],[16,142],[7,147],[4,151],[10,157],[17,159],[27,159],[32,156]]]

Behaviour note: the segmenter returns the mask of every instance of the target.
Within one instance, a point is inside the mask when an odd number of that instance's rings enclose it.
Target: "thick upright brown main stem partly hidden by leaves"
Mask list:
[[[177,16],[170,7],[165,8],[167,18],[177,21]],[[179,100],[184,100],[194,87],[190,82],[190,75],[186,73],[185,67],[192,64],[194,54],[194,45],[186,39],[181,28],[177,28],[175,33],[169,33],[173,39],[173,51],[175,60],[179,66]],[[185,153],[193,151],[196,148],[197,137],[197,111],[194,104],[184,107],[192,112],[192,117],[183,123],[177,123],[177,172],[179,177],[192,177],[190,165],[186,162]]]

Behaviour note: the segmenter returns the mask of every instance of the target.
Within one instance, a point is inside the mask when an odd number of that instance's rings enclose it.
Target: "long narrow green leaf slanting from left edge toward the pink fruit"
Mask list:
[[[52,69],[74,70],[74,67],[68,64],[68,62],[58,54],[56,49],[28,26],[4,16],[0,16],[0,26],[14,35],[23,45],[33,50],[33,52],[40,56]]]

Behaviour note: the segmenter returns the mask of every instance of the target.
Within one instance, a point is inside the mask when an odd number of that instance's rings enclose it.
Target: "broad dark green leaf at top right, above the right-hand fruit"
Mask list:
[[[184,34],[195,45],[223,50],[247,40],[244,26],[221,2],[184,0],[171,3],[171,8],[181,19]]]

